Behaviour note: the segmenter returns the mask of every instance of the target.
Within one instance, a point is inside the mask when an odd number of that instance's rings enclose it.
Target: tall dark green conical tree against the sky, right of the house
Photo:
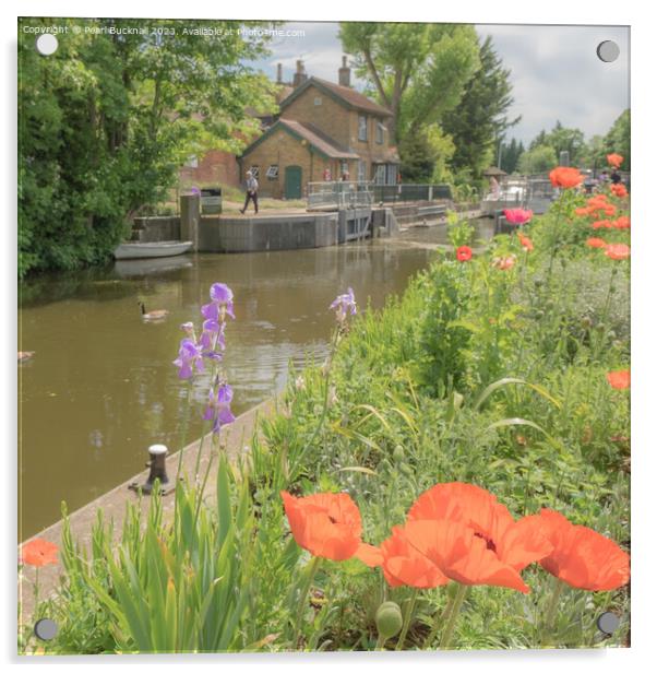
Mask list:
[[[519,121],[506,111],[513,104],[511,70],[503,67],[489,35],[479,47],[480,69],[466,84],[463,98],[444,115],[443,131],[456,147],[452,158],[455,170],[469,168],[476,178],[490,164],[505,131]]]

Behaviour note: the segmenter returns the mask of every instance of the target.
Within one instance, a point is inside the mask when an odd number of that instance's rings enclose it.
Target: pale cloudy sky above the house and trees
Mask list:
[[[258,61],[271,78],[283,64],[285,81],[291,80],[295,63],[302,59],[308,74],[337,81],[342,46],[337,23],[287,23],[285,29],[303,36],[277,37],[272,56]],[[511,70],[514,104],[511,119],[521,121],[507,139],[527,144],[541,129],[557,120],[582,129],[586,138],[605,134],[616,118],[630,107],[630,28],[624,26],[477,25],[477,33],[491,35],[495,51]],[[611,39],[620,47],[619,58],[605,63],[597,46]],[[354,79],[353,79],[354,82]],[[354,82],[357,88],[361,82]]]

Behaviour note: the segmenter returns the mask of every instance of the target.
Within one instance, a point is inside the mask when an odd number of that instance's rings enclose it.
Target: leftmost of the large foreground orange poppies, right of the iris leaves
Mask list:
[[[314,556],[346,560],[356,556],[368,565],[378,554],[360,540],[362,524],[356,503],[346,493],[318,493],[296,498],[280,492],[285,513],[297,544]]]

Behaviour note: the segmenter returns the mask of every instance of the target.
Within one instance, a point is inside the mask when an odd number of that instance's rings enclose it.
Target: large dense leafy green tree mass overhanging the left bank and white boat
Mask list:
[[[126,222],[163,199],[190,154],[238,150],[258,128],[246,107],[273,109],[267,80],[241,64],[263,56],[266,39],[208,24],[222,34],[186,35],[175,21],[135,34],[132,20],[84,20],[95,32],[69,29],[49,57],[19,29],[21,275],[107,260]]]

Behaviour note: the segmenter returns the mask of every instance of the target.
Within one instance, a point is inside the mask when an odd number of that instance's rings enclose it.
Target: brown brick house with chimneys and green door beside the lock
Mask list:
[[[278,71],[280,81],[280,69]],[[308,182],[349,180],[394,185],[399,156],[391,145],[391,113],[350,86],[343,58],[338,84],[308,78],[301,61],[277,118],[239,157],[241,177],[251,170],[261,196],[298,199]]]

